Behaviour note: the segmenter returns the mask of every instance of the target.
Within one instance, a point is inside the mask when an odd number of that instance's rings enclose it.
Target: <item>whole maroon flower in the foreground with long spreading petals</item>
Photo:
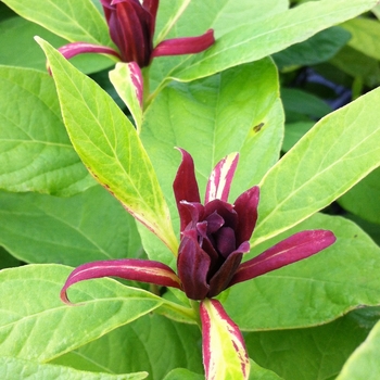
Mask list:
[[[227,202],[239,157],[230,154],[211,174],[202,204],[192,157],[182,149],[180,152],[182,162],[173,185],[181,231],[177,275],[165,264],[153,261],[126,258],[88,263],[69,275],[61,297],[69,304],[66,291],[72,284],[104,276],[181,289],[189,300],[201,301],[206,379],[223,378],[214,324],[224,325],[236,350],[236,359],[240,362],[242,379],[248,379],[250,362],[242,334],[214,297],[235,283],[309,257],[330,246],[335,237],[328,230],[297,232],[241,264],[243,254],[250,252],[249,240],[257,219],[258,187],[243,192],[233,204]]]

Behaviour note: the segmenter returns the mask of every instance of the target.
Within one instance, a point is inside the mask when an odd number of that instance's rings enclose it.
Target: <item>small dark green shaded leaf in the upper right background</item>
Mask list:
[[[351,38],[342,27],[331,27],[317,33],[304,42],[295,43],[274,54],[280,69],[315,65],[331,59]]]

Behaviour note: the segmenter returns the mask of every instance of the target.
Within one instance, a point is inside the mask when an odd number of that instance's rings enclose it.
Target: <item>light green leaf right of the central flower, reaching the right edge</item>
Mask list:
[[[326,207],[380,165],[380,88],[318,122],[264,177],[253,241]]]

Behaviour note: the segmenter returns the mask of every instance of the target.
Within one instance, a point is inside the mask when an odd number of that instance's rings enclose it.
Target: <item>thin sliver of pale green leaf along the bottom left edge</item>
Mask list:
[[[111,375],[76,370],[69,367],[40,364],[16,357],[0,357],[3,380],[69,379],[69,380],[142,380],[148,373]]]

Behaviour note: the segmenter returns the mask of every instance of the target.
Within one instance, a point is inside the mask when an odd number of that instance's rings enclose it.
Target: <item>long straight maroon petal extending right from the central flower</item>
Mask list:
[[[266,250],[258,256],[241,264],[229,286],[250,280],[309,257],[330,246],[335,240],[334,235],[328,230],[297,232]]]

